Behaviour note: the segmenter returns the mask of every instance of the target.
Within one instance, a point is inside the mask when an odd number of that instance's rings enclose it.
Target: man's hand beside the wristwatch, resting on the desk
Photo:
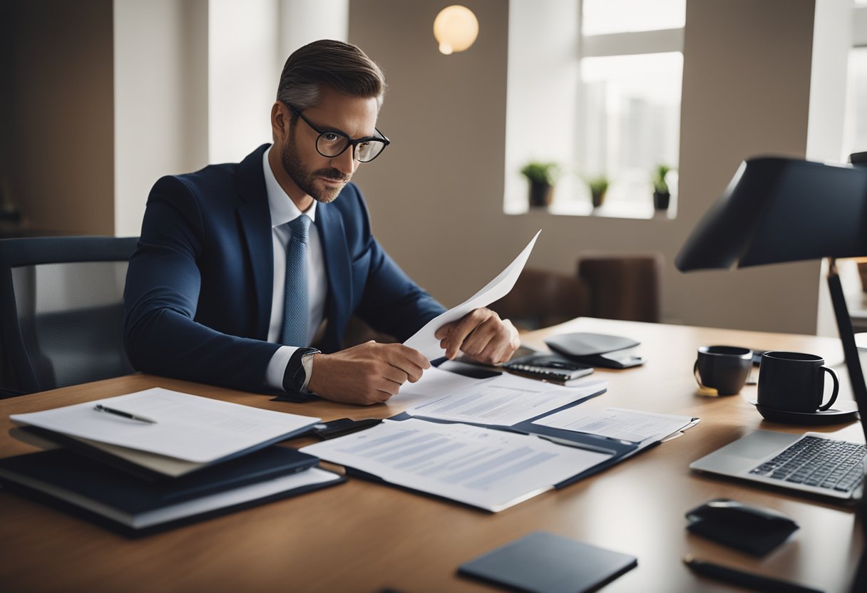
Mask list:
[[[365,342],[330,355],[313,355],[307,388],[326,400],[375,404],[388,400],[430,368],[427,357],[403,344]]]

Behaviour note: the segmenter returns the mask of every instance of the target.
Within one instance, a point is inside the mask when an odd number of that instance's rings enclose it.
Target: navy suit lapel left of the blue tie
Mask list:
[[[238,166],[238,227],[243,236],[253,274],[256,305],[256,338],[268,339],[271,299],[274,290],[274,245],[271,238],[271,210],[262,172],[262,154],[268,145],[258,147]]]

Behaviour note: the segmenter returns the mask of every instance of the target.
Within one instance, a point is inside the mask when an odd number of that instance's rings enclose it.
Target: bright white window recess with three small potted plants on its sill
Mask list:
[[[554,214],[653,218],[677,168],[686,0],[512,0],[504,212],[528,212],[530,161],[557,162]],[[602,207],[587,180],[611,181]],[[676,208],[676,171],[668,186]]]

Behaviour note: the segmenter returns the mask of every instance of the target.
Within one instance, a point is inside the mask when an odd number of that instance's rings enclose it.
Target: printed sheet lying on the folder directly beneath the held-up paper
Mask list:
[[[590,379],[563,387],[504,373],[492,379],[471,379],[428,368],[420,381],[401,388],[401,396],[426,395],[427,401],[407,409],[424,418],[511,427],[607,388],[608,381]]]

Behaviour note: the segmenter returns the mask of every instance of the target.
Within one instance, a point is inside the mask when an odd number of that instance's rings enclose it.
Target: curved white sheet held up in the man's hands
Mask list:
[[[521,270],[524,270],[524,265],[527,263],[527,258],[530,257],[530,254],[533,251],[533,245],[536,244],[536,239],[538,239],[540,232],[542,231],[536,233],[530,243],[524,248],[524,251],[521,251],[518,254],[518,257],[515,257],[512,264],[509,264],[505,270],[501,271],[498,277],[495,277],[491,282],[487,283],[485,288],[479,290],[479,292],[466,299],[463,303],[460,303],[457,307],[447,310],[439,316],[433,317],[433,319],[427,322],[423,328],[415,332],[415,334],[406,342],[403,342],[404,345],[418,350],[421,354],[426,355],[427,359],[431,361],[435,358],[445,356],[446,350],[440,348],[440,341],[434,336],[436,330],[440,329],[446,323],[458,321],[473,309],[487,307],[494,301],[509,294],[509,290],[512,290],[512,286],[515,285],[518,276],[521,275]]]

